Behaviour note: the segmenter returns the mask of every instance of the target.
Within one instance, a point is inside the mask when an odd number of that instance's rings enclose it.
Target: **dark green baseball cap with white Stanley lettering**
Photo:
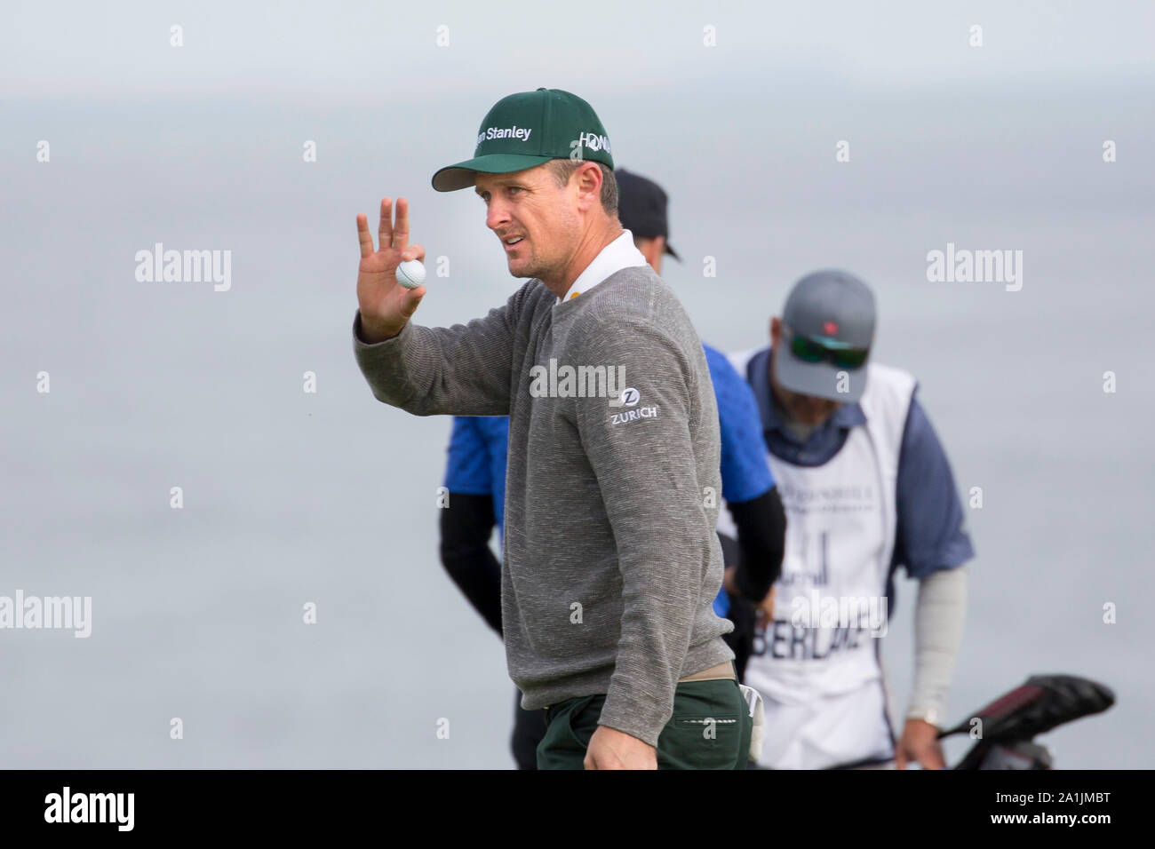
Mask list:
[[[438,192],[469,188],[477,172],[506,174],[550,159],[583,159],[613,167],[610,139],[594,107],[561,89],[520,91],[498,100],[477,131],[474,158],[433,174]]]

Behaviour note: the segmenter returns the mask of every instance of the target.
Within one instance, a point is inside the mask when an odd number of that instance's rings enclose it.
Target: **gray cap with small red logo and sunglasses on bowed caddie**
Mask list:
[[[874,295],[845,271],[821,270],[795,283],[782,311],[774,373],[790,392],[854,403],[866,388],[874,338]]]

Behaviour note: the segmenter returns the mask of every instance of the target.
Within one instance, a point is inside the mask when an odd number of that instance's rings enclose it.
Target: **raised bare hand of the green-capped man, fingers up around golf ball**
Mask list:
[[[393,201],[381,201],[378,225],[378,250],[368,232],[368,218],[357,214],[357,239],[362,261],[357,268],[357,304],[360,308],[362,333],[368,343],[381,342],[401,333],[405,322],[425,297],[425,286],[405,289],[397,282],[397,266],[407,260],[425,261],[425,248],[409,244],[409,201],[397,199],[397,219],[393,221]]]

